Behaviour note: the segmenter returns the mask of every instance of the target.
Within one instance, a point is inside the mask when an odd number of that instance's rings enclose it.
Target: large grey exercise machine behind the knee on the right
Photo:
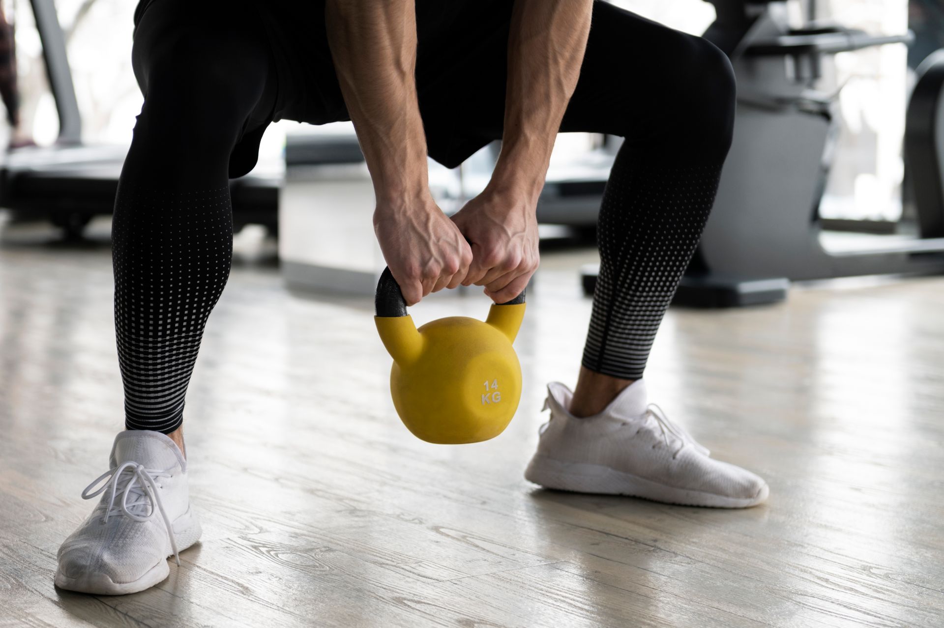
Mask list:
[[[708,0],[704,37],[731,58],[737,113],[715,207],[673,303],[747,306],[784,299],[790,280],[944,272],[944,57],[919,69],[907,109],[907,179],[918,220],[831,250],[819,204],[832,159],[835,94],[812,89],[837,53],[910,41],[841,25],[791,28],[784,0]],[[592,293],[596,274],[583,273]]]

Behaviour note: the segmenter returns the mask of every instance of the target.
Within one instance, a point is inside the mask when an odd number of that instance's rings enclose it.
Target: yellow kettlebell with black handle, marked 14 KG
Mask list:
[[[485,322],[450,316],[416,329],[386,269],[375,305],[377,331],[394,358],[390,393],[413,435],[446,445],[501,434],[521,399],[521,365],[512,342],[525,314],[524,292],[493,305]]]

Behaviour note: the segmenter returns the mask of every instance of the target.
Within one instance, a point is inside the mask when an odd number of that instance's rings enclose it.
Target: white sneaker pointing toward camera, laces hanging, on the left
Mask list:
[[[110,463],[110,471],[82,491],[83,499],[102,499],[59,548],[57,587],[105,595],[142,591],[168,576],[168,556],[179,565],[178,554],[200,537],[177,443],[160,432],[120,432]]]

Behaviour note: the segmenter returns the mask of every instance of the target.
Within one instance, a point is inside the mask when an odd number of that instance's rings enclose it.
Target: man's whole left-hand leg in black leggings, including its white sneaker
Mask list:
[[[167,576],[168,555],[200,536],[180,431],[184,395],[229,273],[229,154],[253,112],[274,103],[265,41],[237,23],[244,12],[217,8],[161,0],[135,34],[144,105],[112,223],[127,430],[115,438],[110,471],[82,494],[102,497],[59,549],[59,587],[143,590]]]

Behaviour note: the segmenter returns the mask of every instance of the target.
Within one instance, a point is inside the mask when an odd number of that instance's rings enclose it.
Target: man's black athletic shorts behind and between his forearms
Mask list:
[[[140,0],[135,27],[144,11],[162,0]],[[484,56],[505,56],[514,0],[416,0],[416,87],[430,157],[448,167],[462,163],[494,138],[476,137],[473,129],[457,122],[464,107],[474,106],[467,88],[480,83],[472,73],[500,67],[497,89],[504,89],[504,60],[481,63]],[[194,10],[199,10],[194,5]],[[233,162],[255,163],[265,127],[273,121],[294,120],[327,124],[350,120],[338,85],[325,30],[325,2],[244,0],[230,10],[265,30],[278,72],[276,105],[265,119],[244,129],[233,150]],[[186,20],[186,15],[180,16]],[[233,163],[232,165],[236,165]],[[244,174],[240,166],[233,175]],[[233,172],[236,171],[236,172]]]

